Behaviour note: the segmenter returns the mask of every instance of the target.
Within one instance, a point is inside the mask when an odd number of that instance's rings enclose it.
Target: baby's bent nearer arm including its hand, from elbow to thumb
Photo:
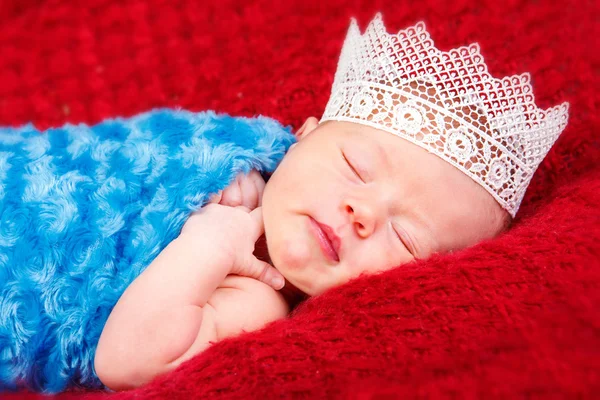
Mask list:
[[[278,274],[252,255],[261,222],[260,209],[218,204],[188,219],[182,234],[127,288],[104,327],[95,369],[106,386],[144,384],[217,340],[218,311],[209,300],[225,277],[269,283]]]

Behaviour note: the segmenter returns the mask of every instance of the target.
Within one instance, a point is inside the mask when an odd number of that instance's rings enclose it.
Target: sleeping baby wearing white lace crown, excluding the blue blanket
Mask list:
[[[192,214],[120,298],[101,381],[142,385],[305,296],[506,230],[567,121],[566,103],[535,106],[528,78],[492,78],[477,45],[437,50],[422,23],[389,35],[377,15],[361,35],[353,21],[321,121],[268,182],[240,175]]]

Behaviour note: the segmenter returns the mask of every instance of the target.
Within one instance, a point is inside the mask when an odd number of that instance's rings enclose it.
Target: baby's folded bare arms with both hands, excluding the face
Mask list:
[[[289,312],[277,291],[281,274],[253,255],[264,232],[260,196],[250,193],[252,185],[241,187],[244,197],[235,196],[234,184],[222,199],[193,213],[179,237],[125,290],[96,349],[96,373],[106,386],[142,385],[210,343]],[[237,206],[217,203],[228,198]]]

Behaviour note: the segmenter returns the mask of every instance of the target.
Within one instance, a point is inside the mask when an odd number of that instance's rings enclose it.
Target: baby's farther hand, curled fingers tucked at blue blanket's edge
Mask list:
[[[230,207],[244,206],[254,210],[256,207],[261,206],[264,190],[264,179],[258,171],[252,170],[248,175],[238,174],[231,185],[210,199],[210,203]]]

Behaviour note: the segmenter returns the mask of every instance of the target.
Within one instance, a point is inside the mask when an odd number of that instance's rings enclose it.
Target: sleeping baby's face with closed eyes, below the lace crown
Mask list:
[[[317,126],[315,118],[302,131],[262,204],[273,265],[309,295],[507,226],[508,213],[485,189],[404,139],[350,122]]]

